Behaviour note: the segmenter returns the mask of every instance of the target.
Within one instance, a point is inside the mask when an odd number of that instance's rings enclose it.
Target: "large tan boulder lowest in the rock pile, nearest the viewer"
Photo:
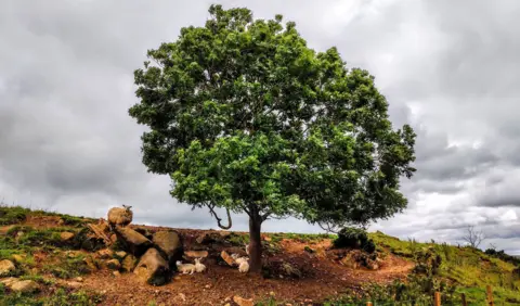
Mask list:
[[[133,270],[138,278],[153,285],[161,285],[167,282],[169,276],[168,262],[162,258],[159,251],[148,248],[141,257],[138,266]]]

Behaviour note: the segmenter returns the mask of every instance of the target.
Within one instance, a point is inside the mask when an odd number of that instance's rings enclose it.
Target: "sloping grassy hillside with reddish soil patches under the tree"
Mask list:
[[[520,269],[509,257],[471,247],[403,241],[381,232],[369,233],[376,244],[370,256],[377,256],[380,265],[376,270],[351,267],[344,259],[336,259],[339,251],[330,250],[335,235],[271,233],[264,235],[270,263],[266,280],[208,263],[207,275],[176,278],[171,284],[156,290],[134,282],[132,273],[117,275],[96,268],[103,266],[98,251],[103,246],[86,243],[84,239],[86,224],[94,221],[22,207],[0,207],[0,262],[9,259],[16,265],[15,270],[0,277],[0,305],[181,305],[183,301],[186,305],[197,304],[193,302],[197,299],[190,298],[213,299],[213,305],[224,305],[233,294],[251,292],[257,305],[364,305],[366,301],[376,302],[375,305],[414,305],[412,302],[430,305],[434,291],[442,292],[443,305],[459,303],[460,293],[466,294],[469,305],[484,305],[486,285],[493,286],[495,305],[520,305]],[[179,231],[186,247],[205,232]],[[67,239],[64,233],[73,233],[74,238]],[[231,247],[245,242],[247,235],[243,233],[225,233],[225,243]],[[362,260],[368,257],[361,255]],[[31,280],[39,289],[13,292],[1,284],[6,277]],[[219,279],[230,283],[216,282]],[[113,284],[112,291],[105,290],[107,284]],[[139,294],[128,297],[136,285]],[[202,297],[187,296],[194,290],[194,295]],[[165,295],[158,294],[159,291]],[[171,296],[184,295],[187,297],[171,302],[174,299]]]

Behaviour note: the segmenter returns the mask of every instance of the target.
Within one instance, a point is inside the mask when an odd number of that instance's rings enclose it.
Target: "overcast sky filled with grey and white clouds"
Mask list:
[[[214,1],[213,1],[214,2]],[[153,3],[153,5],[151,5]],[[203,25],[211,1],[4,0],[0,4],[0,200],[135,222],[214,228],[141,164],[144,130],[128,116],[147,49]],[[368,69],[391,119],[418,135],[410,207],[372,230],[461,242],[468,225],[520,254],[520,2],[217,1],[256,17],[282,13],[309,44],[336,46]],[[245,230],[237,217],[234,229]],[[314,232],[303,221],[269,231]]]

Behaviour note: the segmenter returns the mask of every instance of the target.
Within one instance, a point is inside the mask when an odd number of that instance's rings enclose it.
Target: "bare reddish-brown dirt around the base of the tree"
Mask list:
[[[58,226],[58,218],[37,216],[29,217],[25,225],[49,228]],[[165,228],[146,227],[146,229],[155,231]],[[187,242],[187,246],[199,234],[209,232],[188,229],[178,231],[184,238],[184,243]],[[312,247],[315,253],[306,252],[306,245]],[[274,276],[271,279],[263,279],[207,260],[203,262],[208,267],[205,273],[178,275],[162,286],[143,284],[133,273],[114,276],[108,270],[84,276],[84,281],[80,283],[76,281],[64,281],[64,283],[68,282],[74,290],[84,289],[103,293],[104,301],[101,305],[147,305],[152,301],[157,305],[225,305],[226,303],[233,305],[231,301],[234,295],[261,302],[268,299],[271,294],[282,303],[321,305],[321,302],[329,297],[348,290],[359,289],[365,283],[385,284],[395,279],[404,279],[414,266],[413,263],[389,254],[384,258],[378,270],[349,268],[327,255],[326,250],[330,246],[330,240],[307,243],[283,240],[280,246],[281,252],[269,255],[265,258],[266,262],[290,263],[302,270],[302,278],[281,279]],[[42,264],[47,260],[47,256],[38,253],[35,254],[35,259],[38,264]]]

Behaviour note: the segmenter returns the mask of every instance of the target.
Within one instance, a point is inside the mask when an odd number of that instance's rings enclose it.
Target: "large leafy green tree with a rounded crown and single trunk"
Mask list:
[[[246,213],[253,272],[266,219],[364,225],[406,207],[399,183],[415,171],[415,133],[392,129],[368,72],[348,69],[336,48],[310,49],[282,15],[209,13],[134,73],[141,101],[129,114],[150,127],[143,163],[171,176],[172,196],[224,228],[230,211]]]

